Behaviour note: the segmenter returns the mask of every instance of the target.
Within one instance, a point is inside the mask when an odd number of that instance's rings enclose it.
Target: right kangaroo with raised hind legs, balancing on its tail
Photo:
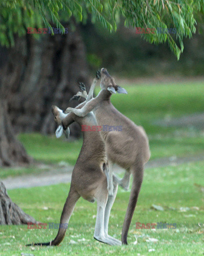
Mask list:
[[[134,124],[129,118],[121,114],[111,103],[113,93],[127,93],[124,88],[118,86],[114,78],[108,74],[107,69],[101,71],[101,91],[96,98],[89,95],[90,101],[86,101],[77,108],[67,108],[66,113],[74,113],[78,116],[86,116],[90,111],[94,111],[98,125],[122,126],[122,132],[102,131],[101,135],[105,141],[106,154],[109,167],[109,185],[113,180],[113,164],[116,163],[126,170],[125,176],[120,182],[129,186],[130,174],[133,175],[132,189],[125,214],[122,228],[122,244],[128,244],[127,237],[134,209],[137,204],[145,163],[150,158],[149,141],[142,126]],[[96,84],[96,83],[95,83]],[[93,83],[93,86],[95,86]],[[93,87],[92,86],[92,87]],[[91,89],[94,91],[93,89]],[[92,99],[91,99],[92,98]],[[63,128],[66,130],[70,117],[62,120]],[[113,186],[113,185],[112,185]]]

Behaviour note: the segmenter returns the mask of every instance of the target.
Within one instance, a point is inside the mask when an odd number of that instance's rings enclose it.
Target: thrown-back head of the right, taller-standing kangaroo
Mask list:
[[[114,78],[109,75],[106,68],[101,68],[100,74],[101,74],[101,82],[100,82],[101,89],[105,89],[111,93],[116,93],[116,92],[125,93],[125,94],[128,93],[123,87],[115,83]]]

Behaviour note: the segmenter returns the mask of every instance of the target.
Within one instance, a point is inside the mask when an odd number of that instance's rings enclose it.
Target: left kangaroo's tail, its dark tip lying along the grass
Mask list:
[[[53,241],[50,241],[48,243],[27,244],[27,246],[30,246],[30,245],[40,245],[40,246],[59,245],[65,236],[70,217],[74,210],[74,206],[77,203],[79,198],[80,198],[80,195],[77,193],[77,191],[72,191],[72,189],[70,189],[70,193],[69,193],[68,197],[66,198],[66,202],[64,204],[64,208],[62,211],[62,215],[61,215],[61,219],[60,219],[60,228],[58,229],[57,236],[55,237],[55,239]]]

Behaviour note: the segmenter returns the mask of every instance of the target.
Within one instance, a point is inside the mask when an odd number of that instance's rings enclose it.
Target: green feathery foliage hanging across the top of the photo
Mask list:
[[[195,17],[199,19],[203,10],[203,0],[2,0],[0,43],[13,46],[14,34],[22,36],[27,27],[40,27],[44,23],[52,30],[51,21],[64,33],[62,20],[74,17],[78,22],[86,22],[88,14],[92,22],[99,20],[112,31],[123,16],[126,27],[175,28],[175,37],[169,33],[142,36],[150,43],[167,42],[179,59],[184,49],[183,37],[192,37],[196,32]]]

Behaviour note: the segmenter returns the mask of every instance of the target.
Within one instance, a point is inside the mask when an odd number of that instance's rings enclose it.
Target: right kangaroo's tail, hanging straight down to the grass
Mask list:
[[[132,220],[134,209],[138,201],[138,195],[140,193],[140,188],[143,180],[143,163],[137,162],[131,168],[131,172],[133,175],[133,182],[132,182],[132,189],[131,189],[128,209],[126,211],[125,219],[123,222],[123,229],[122,229],[122,236],[121,236],[122,244],[128,244],[127,242],[128,231],[130,228],[130,223]]]

